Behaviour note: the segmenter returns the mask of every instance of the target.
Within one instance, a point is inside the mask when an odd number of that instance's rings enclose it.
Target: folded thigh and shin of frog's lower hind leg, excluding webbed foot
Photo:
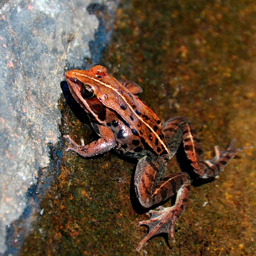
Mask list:
[[[164,166],[165,168],[165,166]],[[159,166],[156,160],[145,156],[140,159],[134,176],[137,198],[144,208],[158,204],[178,192],[184,184],[190,184],[186,172],[171,174],[157,183]]]

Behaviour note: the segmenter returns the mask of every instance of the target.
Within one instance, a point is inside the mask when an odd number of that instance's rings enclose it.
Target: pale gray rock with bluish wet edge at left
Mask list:
[[[90,0],[0,3],[2,254],[8,227],[24,214],[38,171],[50,163],[48,144],[59,141],[57,105],[66,64],[89,68],[86,59],[98,62],[112,25],[102,13],[114,13],[116,6],[117,1]]]

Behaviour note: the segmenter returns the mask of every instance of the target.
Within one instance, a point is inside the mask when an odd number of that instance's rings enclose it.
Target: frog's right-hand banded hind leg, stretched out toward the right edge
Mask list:
[[[200,178],[206,179],[217,176],[224,170],[230,160],[234,158],[238,152],[243,150],[243,148],[235,148],[234,140],[232,140],[226,151],[222,152],[218,146],[215,146],[216,156],[212,160],[204,160],[202,143],[188,118],[177,116],[170,119],[164,125],[164,131],[167,137],[166,140],[169,140],[170,144],[172,143],[170,140],[171,132],[174,135],[179,134],[179,129],[182,129],[182,142],[186,156],[190,161],[194,172],[196,172]]]

